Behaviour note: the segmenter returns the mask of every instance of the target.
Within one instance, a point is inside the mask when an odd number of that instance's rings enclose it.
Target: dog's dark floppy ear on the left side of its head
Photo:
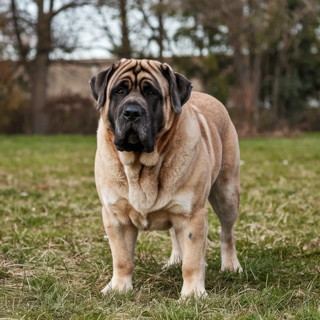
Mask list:
[[[97,101],[97,110],[106,102],[106,88],[112,69],[113,66],[107,70],[100,71],[89,80],[92,96]]]

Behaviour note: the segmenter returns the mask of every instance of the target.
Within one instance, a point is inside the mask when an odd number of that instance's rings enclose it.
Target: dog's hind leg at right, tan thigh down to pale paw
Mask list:
[[[238,216],[240,200],[238,154],[232,155],[232,157],[235,157],[232,161],[230,161],[230,158],[228,161],[226,161],[226,158],[222,159],[221,171],[208,197],[221,224],[221,271],[242,271],[236,253],[233,229],[233,225]]]

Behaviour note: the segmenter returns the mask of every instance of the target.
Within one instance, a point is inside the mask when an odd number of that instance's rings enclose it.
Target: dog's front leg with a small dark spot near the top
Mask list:
[[[174,225],[182,252],[182,299],[189,296],[207,296],[204,289],[207,225],[207,208],[197,211],[191,219],[185,218],[183,223],[180,220],[180,223]]]

